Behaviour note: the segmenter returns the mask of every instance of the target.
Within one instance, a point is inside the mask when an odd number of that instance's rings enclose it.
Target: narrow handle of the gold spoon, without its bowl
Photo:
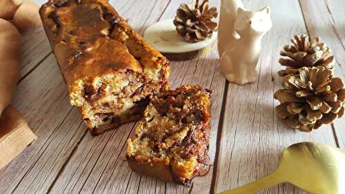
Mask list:
[[[279,177],[277,172],[270,173],[266,177],[263,177],[260,180],[252,182],[250,184],[246,184],[245,186],[241,186],[238,188],[231,189],[230,191],[224,191],[219,194],[250,194],[255,193],[256,191],[262,190],[264,188],[268,188],[271,186],[275,186],[283,182],[281,177]]]

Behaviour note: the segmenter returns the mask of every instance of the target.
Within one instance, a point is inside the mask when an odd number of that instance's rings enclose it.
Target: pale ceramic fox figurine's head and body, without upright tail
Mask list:
[[[257,61],[262,37],[272,28],[270,8],[258,11],[237,10],[235,30],[239,39],[233,39],[221,55],[221,72],[229,82],[247,84],[257,79]],[[229,32],[230,33],[230,32]]]

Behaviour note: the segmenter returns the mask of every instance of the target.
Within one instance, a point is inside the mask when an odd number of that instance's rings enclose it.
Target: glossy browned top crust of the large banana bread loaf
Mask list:
[[[146,73],[168,66],[108,1],[52,0],[40,14],[68,86],[119,69]]]

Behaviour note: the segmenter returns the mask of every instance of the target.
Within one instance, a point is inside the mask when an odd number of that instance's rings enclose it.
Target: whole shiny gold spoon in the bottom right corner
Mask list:
[[[312,142],[293,144],[282,153],[277,171],[219,194],[255,193],[282,182],[290,182],[314,194],[344,194],[345,152]]]

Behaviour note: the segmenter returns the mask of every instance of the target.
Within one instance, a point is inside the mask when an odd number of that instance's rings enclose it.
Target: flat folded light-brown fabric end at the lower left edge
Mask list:
[[[18,110],[6,108],[0,117],[0,169],[6,166],[37,137]]]

